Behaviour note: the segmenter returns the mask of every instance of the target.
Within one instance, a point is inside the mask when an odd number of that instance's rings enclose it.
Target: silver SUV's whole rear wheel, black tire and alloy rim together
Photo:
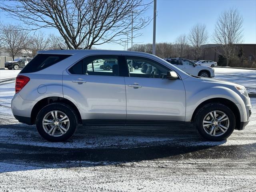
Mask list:
[[[36,117],[38,133],[48,141],[68,140],[76,131],[78,119],[72,107],[62,103],[52,103],[40,110]]]

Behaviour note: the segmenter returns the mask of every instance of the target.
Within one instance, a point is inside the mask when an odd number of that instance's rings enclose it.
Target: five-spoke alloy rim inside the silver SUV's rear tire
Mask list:
[[[61,111],[48,112],[42,121],[44,131],[50,136],[59,137],[64,135],[70,126],[68,116]]]

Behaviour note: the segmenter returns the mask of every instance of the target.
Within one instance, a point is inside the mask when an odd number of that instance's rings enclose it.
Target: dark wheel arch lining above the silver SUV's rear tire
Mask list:
[[[32,108],[31,111],[31,122],[32,124],[35,124],[36,122],[36,116],[38,114],[38,112],[46,105],[54,103],[54,102],[59,102],[59,103],[65,103],[68,104],[69,106],[71,106],[77,113],[78,115],[78,122],[82,123],[82,118],[81,118],[81,114],[78,110],[78,108],[76,107],[76,105],[71,102],[70,100],[66,99],[66,98],[62,98],[62,97],[57,97],[57,96],[51,96],[51,97],[46,97],[41,99],[40,101],[38,101],[34,107]]]

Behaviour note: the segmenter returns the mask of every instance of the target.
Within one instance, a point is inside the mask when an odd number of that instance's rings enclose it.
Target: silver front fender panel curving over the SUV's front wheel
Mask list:
[[[190,122],[192,115],[196,108],[204,101],[213,98],[225,98],[236,104],[238,110],[240,111],[241,121],[246,120],[246,107],[242,98],[233,90],[222,87],[214,86],[208,89],[200,90],[187,96],[186,98],[186,117],[185,121]]]

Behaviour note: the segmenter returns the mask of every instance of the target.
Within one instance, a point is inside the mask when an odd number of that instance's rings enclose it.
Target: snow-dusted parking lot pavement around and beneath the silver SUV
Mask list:
[[[216,78],[227,80],[219,69]],[[238,81],[232,72],[228,80]],[[250,70],[234,73],[243,76],[240,84],[256,87],[249,81],[255,76]],[[256,189],[256,98],[251,98],[246,129],[222,142],[205,141],[185,127],[80,126],[68,142],[51,143],[40,138],[35,126],[14,118],[13,94],[14,83],[0,85],[1,192]]]

